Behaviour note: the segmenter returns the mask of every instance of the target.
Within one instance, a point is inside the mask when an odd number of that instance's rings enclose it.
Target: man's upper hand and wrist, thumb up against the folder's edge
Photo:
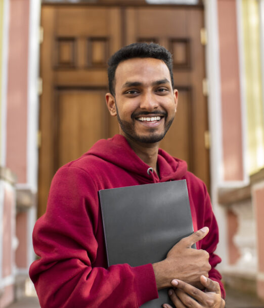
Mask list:
[[[201,275],[208,277],[211,269],[209,254],[205,250],[191,247],[203,239],[208,231],[209,229],[204,227],[183,238],[171,248],[166,259],[153,264],[158,290],[170,287],[174,278],[201,287]]]

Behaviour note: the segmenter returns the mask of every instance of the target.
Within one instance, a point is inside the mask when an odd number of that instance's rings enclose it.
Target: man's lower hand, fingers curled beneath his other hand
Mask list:
[[[221,289],[218,282],[205,276],[200,278],[205,291],[201,291],[194,286],[181,280],[172,280],[171,285],[174,290],[169,290],[169,296],[177,308],[224,308],[225,300],[221,298]],[[164,304],[164,308],[172,308],[169,304]]]

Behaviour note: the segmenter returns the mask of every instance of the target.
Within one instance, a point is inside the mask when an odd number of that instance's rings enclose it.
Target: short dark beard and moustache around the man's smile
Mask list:
[[[151,114],[161,114],[160,112],[151,112]],[[156,131],[156,128],[153,127],[153,128],[150,128],[149,129],[149,134],[147,136],[140,136],[139,134],[136,133],[136,130],[135,130],[135,122],[127,122],[127,121],[124,121],[124,120],[121,120],[120,116],[119,116],[119,113],[118,113],[118,109],[116,107],[116,114],[117,114],[117,121],[121,127],[121,129],[123,130],[123,132],[125,133],[125,135],[135,141],[138,141],[138,142],[141,142],[141,143],[156,143],[156,142],[159,142],[161,141],[170,125],[172,124],[173,122],[173,119],[174,117],[172,117],[167,123],[166,123],[166,119],[167,119],[167,113],[164,113],[162,112],[162,114],[164,115],[164,118],[165,118],[165,124],[164,124],[164,131],[163,133],[161,134],[158,134],[158,133],[155,133]],[[144,114],[144,113],[141,113],[141,114]],[[132,119],[135,119],[135,115],[131,115],[131,118]]]

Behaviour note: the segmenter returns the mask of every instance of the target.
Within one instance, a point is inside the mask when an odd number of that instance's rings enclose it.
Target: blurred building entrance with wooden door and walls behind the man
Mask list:
[[[262,306],[264,0],[0,0],[0,308],[34,295],[31,234],[56,170],[118,133],[107,60],[136,41],[173,55],[161,147],[207,185],[227,289]]]

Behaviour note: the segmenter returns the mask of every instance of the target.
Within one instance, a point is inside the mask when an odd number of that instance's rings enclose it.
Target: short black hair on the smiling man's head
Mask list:
[[[173,72],[172,72],[172,56],[171,53],[166,50],[165,47],[160,46],[156,43],[132,43],[119,49],[108,61],[108,86],[110,93],[115,95],[115,71],[118,64],[122,61],[133,59],[133,58],[154,58],[162,60],[168,67],[171,79],[172,88],[174,86],[173,82]]]

